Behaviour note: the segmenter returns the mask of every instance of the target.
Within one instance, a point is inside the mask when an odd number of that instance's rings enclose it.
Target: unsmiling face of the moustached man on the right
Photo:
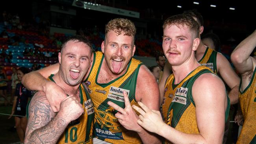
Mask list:
[[[188,61],[197,49],[195,35],[189,28],[182,25],[166,26],[163,29],[163,52],[172,66]]]

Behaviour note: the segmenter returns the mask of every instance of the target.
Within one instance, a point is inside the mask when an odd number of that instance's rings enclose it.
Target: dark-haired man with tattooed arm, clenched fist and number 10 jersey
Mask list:
[[[91,43],[83,36],[67,39],[59,53],[59,71],[48,81],[68,95],[54,113],[47,94],[38,91],[27,107],[25,143],[93,143],[93,103],[81,83],[91,64]],[[54,96],[55,97],[55,96]],[[64,132],[65,131],[65,132]]]

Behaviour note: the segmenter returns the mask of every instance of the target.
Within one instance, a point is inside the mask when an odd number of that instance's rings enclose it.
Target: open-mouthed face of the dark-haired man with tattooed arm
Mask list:
[[[68,41],[59,53],[61,78],[70,86],[79,85],[91,63],[91,48],[83,43]]]

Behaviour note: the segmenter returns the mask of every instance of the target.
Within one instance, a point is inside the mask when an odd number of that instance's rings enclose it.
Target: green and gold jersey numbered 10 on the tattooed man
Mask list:
[[[52,79],[54,75],[48,77]],[[93,143],[93,120],[94,107],[87,91],[87,88],[81,84],[79,86],[80,103],[83,105],[84,113],[76,120],[73,120],[66,127],[63,134],[59,137],[58,144],[92,144]],[[27,111],[28,111],[27,106]]]

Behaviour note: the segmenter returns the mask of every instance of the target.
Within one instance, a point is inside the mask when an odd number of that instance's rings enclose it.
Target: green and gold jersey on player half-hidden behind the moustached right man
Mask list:
[[[218,74],[217,71],[217,53],[215,50],[211,48],[206,48],[204,52],[204,56],[198,61],[201,65],[207,66],[211,69],[215,74]]]

